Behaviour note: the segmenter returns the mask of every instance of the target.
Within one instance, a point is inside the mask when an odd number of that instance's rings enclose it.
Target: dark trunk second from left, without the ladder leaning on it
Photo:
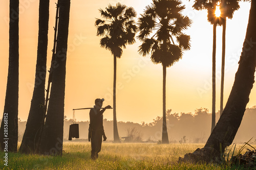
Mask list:
[[[23,135],[19,151],[22,153],[34,153],[38,142],[39,132],[42,125],[42,117],[45,105],[45,78],[48,45],[49,25],[49,0],[39,1],[39,30],[37,61],[35,71],[35,86],[30,105],[26,130]]]

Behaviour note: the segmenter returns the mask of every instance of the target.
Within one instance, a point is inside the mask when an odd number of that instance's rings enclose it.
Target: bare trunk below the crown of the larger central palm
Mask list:
[[[163,131],[162,143],[169,143],[166,126],[166,66],[163,65]]]

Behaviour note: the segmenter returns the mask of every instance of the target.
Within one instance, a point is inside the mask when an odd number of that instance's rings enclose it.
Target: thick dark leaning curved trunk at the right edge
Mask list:
[[[197,149],[194,153],[186,154],[184,158],[180,159],[181,161],[220,162],[225,148],[232,143],[236,136],[254,83],[256,66],[255,16],[256,0],[252,0],[243,51],[227,104],[204,148]]]

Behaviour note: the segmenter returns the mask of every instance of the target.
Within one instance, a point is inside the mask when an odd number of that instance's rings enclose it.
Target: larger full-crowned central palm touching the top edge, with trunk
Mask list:
[[[151,55],[153,63],[163,66],[162,143],[169,143],[165,105],[166,67],[178,62],[183,52],[190,49],[190,37],[182,31],[190,27],[191,21],[181,14],[183,9],[185,6],[179,0],[153,0],[138,21],[140,33],[137,38],[142,41],[139,54]]]

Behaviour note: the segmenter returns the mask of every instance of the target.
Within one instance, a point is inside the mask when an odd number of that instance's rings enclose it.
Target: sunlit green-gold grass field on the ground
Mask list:
[[[8,166],[1,161],[0,169],[244,169],[227,164],[177,162],[180,156],[194,152],[203,145],[102,143],[99,158],[93,161],[89,142],[64,142],[61,157],[8,153]],[[2,160],[4,154],[0,152]]]

